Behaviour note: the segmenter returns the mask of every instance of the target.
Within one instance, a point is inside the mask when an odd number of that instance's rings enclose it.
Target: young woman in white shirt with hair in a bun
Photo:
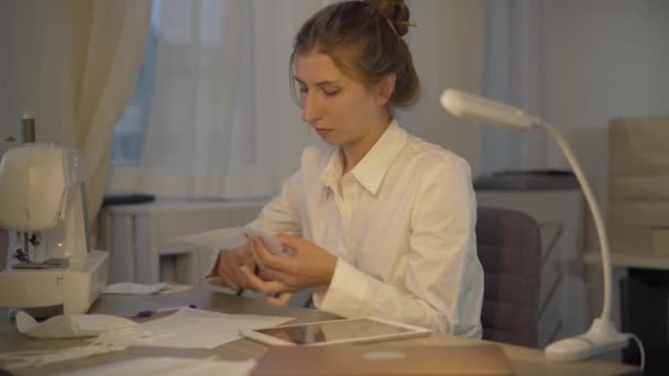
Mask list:
[[[483,270],[469,165],[394,118],[420,87],[402,38],[409,25],[404,1],[344,1],[301,26],[292,79],[301,118],[323,143],[304,151],[300,169],[251,223],[294,256],[250,239],[221,252],[217,272],[274,305],[312,288],[325,311],[480,338]]]

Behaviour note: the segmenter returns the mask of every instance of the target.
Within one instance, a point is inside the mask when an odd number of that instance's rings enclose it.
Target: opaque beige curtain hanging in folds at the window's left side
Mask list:
[[[151,18],[151,1],[73,0],[75,147],[88,170],[91,219],[102,203],[113,125],[134,91]]]

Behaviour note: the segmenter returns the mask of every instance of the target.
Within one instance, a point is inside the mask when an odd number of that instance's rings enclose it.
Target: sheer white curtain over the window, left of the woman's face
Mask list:
[[[321,5],[164,0],[135,189],[191,199],[277,193],[310,135],[289,95],[290,44]]]

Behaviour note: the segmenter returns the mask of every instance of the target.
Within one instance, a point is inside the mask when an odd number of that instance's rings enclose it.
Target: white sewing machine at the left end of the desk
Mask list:
[[[107,284],[107,252],[90,250],[77,151],[21,144],[0,161],[0,228],[10,230],[0,307],[86,313]],[[47,314],[52,316],[52,314]]]

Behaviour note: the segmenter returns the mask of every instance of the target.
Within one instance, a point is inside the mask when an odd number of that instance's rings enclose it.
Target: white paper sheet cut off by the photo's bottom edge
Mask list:
[[[197,376],[197,375],[226,375],[246,376],[255,366],[255,361],[226,362],[216,358],[194,360],[187,357],[139,357],[128,361],[105,363],[99,366],[68,371],[65,374],[74,376]]]

